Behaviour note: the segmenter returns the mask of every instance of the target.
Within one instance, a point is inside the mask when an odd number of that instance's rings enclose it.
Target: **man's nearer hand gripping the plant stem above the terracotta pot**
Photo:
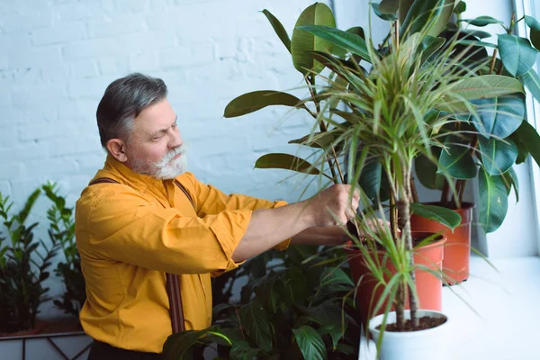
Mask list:
[[[329,227],[347,223],[354,219],[360,193],[352,186],[334,184],[306,201],[306,211],[312,220],[311,226]]]

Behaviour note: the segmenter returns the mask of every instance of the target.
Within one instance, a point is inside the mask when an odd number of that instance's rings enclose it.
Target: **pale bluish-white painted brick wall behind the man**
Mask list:
[[[95,108],[106,85],[130,72],[160,76],[191,144],[190,170],[226,192],[297,200],[284,171],[254,170],[268,151],[308,133],[302,113],[266,109],[222,119],[239,94],[302,85],[264,14],[288,31],[313,0],[23,0],[0,4],[0,192],[18,206],[45,181],[74,204],[103,165]],[[299,96],[307,92],[296,90]],[[278,124],[285,129],[276,130]],[[292,190],[293,189],[293,190]],[[43,198],[34,220],[44,221]],[[37,234],[48,240],[45,229]],[[62,291],[50,282],[52,295]],[[58,315],[52,306],[42,314]]]

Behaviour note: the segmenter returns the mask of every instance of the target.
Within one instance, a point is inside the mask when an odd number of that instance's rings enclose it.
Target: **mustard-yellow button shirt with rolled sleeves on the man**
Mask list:
[[[139,175],[107,157],[76,202],[76,245],[86,281],[80,320],[113,347],[160,353],[171,335],[165,273],[180,275],[185,329],[211,325],[211,275],[238,267],[231,255],[251,213],[286,202],[221,193],[191,173],[172,180]],[[278,248],[286,248],[288,241]]]

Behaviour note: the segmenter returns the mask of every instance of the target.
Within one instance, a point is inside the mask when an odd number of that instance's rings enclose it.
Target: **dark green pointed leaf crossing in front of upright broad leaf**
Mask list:
[[[313,34],[316,38],[329,41],[340,48],[347,49],[367,61],[370,59],[365,40],[360,35],[321,25],[299,26],[297,29]]]

